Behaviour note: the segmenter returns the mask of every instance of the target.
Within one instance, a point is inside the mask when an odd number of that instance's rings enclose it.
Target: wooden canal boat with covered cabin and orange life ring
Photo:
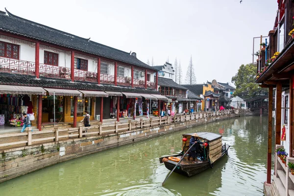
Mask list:
[[[179,162],[179,159],[183,158],[183,155],[189,149],[189,142],[194,133],[183,134],[182,152],[179,154],[173,154],[169,156],[162,156],[159,158],[160,163],[164,163],[165,167],[172,171],[172,169]],[[206,170],[207,168],[213,168],[213,164],[219,160],[224,154],[227,155],[229,145],[222,145],[221,135],[208,132],[197,132],[198,139],[202,140],[203,144],[200,145],[201,153],[198,154],[195,161],[188,160],[186,155],[174,172],[185,176],[192,176],[199,172]],[[174,160],[171,157],[176,157],[178,160]]]

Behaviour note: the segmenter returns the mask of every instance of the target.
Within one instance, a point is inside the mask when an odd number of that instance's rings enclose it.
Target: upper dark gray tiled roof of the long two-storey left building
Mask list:
[[[7,11],[7,10],[6,10]],[[89,39],[51,28],[46,25],[38,24],[8,12],[8,15],[0,14],[0,30],[23,35],[28,38],[44,41],[54,45],[76,49],[89,54],[98,55],[108,59],[121,61],[138,67],[155,70],[151,66],[143,63],[129,52],[114,49]],[[64,19],[66,21],[66,19]]]

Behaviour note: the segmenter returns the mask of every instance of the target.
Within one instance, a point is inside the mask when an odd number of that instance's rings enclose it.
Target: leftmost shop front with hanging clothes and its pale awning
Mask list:
[[[23,113],[37,119],[37,96],[45,94],[41,87],[0,85],[0,129],[23,126]],[[35,120],[32,124],[36,125]]]

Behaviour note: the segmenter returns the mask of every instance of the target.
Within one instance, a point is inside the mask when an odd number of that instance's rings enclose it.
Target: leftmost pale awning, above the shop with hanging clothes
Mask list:
[[[46,95],[42,87],[0,85],[0,94]]]

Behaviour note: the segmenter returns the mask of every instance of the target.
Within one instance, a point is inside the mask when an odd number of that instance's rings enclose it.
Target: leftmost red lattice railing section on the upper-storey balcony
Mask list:
[[[30,61],[0,57],[0,72],[25,73],[35,75],[35,63]]]

